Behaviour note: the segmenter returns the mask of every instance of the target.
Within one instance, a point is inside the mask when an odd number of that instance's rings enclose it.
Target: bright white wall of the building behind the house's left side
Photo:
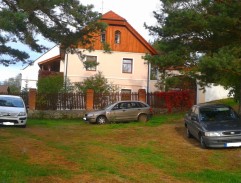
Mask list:
[[[21,89],[25,88],[37,88],[37,80],[38,80],[38,72],[39,72],[39,62],[42,62],[46,59],[59,55],[59,46],[56,45],[51,48],[49,51],[41,55],[38,59],[36,59],[32,65],[28,65],[24,69],[21,70],[22,74],[22,82]]]

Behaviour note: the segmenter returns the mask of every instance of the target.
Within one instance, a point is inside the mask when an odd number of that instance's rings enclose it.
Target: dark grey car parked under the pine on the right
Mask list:
[[[185,115],[187,137],[195,137],[205,147],[240,147],[241,120],[227,105],[194,105]]]

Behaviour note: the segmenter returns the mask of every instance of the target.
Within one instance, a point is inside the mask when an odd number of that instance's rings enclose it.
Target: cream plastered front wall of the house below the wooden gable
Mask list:
[[[97,56],[99,65],[96,71],[86,71],[78,56],[69,54],[67,73],[71,82],[81,82],[101,71],[108,82],[117,85],[120,90],[131,89],[132,92],[137,92],[139,89],[147,89],[148,65],[142,59],[143,53],[112,52],[110,54],[103,53],[103,50],[95,50],[85,51],[85,54]],[[133,59],[132,73],[122,73],[123,58]]]

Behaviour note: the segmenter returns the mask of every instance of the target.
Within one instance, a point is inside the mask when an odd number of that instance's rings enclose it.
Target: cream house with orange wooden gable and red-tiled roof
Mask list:
[[[108,24],[106,30],[95,40],[94,51],[79,47],[83,58],[66,53],[39,62],[42,71],[64,72],[64,77],[78,83],[99,71],[122,92],[137,92],[149,86],[148,64],[145,54],[157,54],[156,50],[121,16],[113,11],[104,14],[101,21]],[[103,44],[111,49],[105,52]],[[98,63],[85,68],[83,62]],[[59,70],[58,70],[59,69]]]

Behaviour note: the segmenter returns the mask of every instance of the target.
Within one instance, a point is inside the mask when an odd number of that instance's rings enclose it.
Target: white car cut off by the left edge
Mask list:
[[[19,96],[0,95],[0,125],[26,127],[27,110]]]

